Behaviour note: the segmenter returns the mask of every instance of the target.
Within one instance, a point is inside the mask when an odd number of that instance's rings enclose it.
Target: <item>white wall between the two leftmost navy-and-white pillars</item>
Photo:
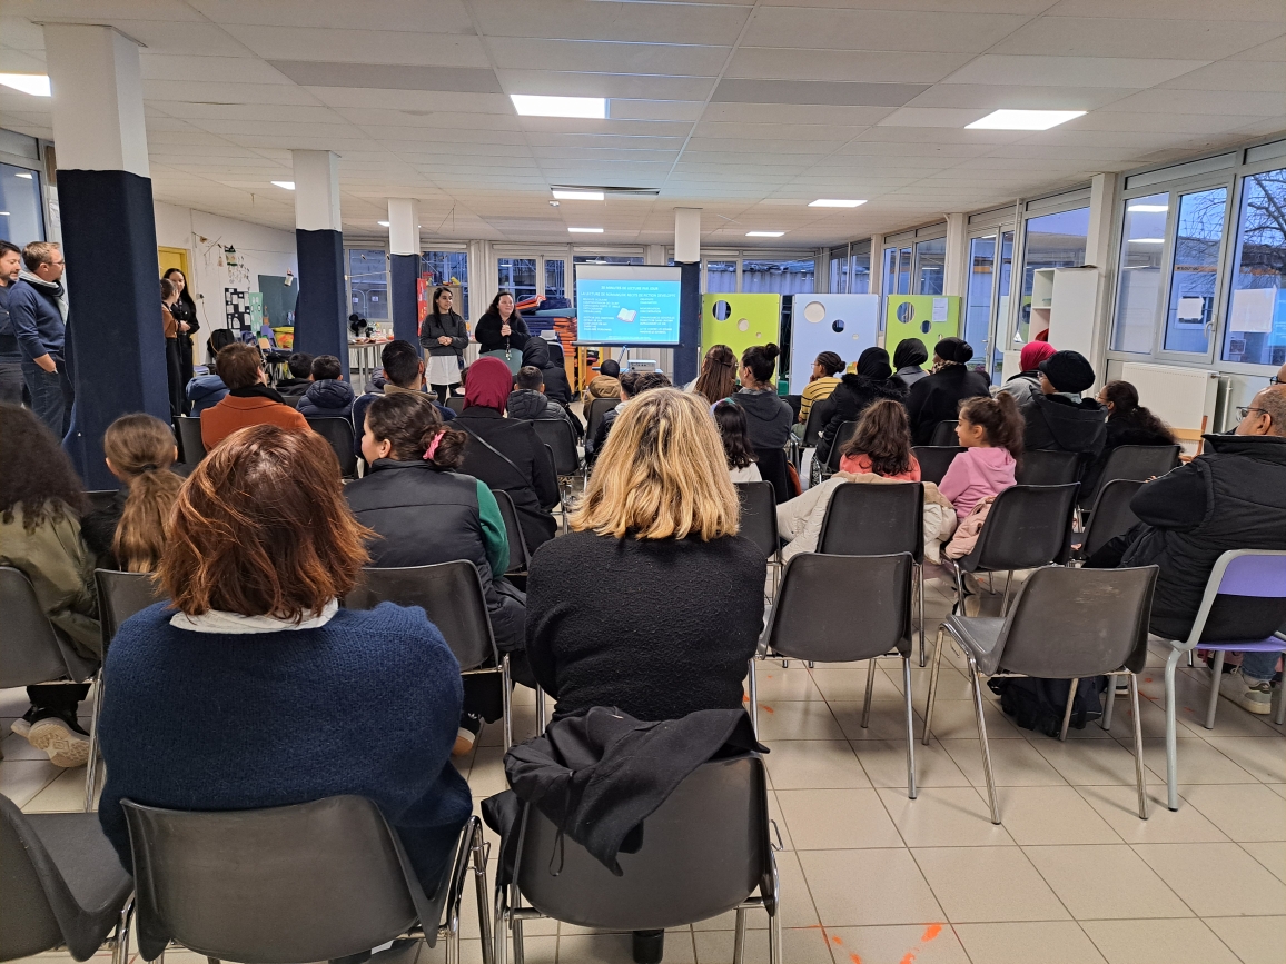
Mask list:
[[[197,298],[197,359],[204,360],[206,339],[213,328],[226,324],[224,288],[258,290],[260,275],[300,275],[294,252],[294,235],[274,228],[234,221],[174,204],[153,204],[157,222],[157,244],[184,248],[192,265],[193,297]],[[220,263],[226,245],[237,248],[240,267]],[[199,296],[199,297],[198,297]]]

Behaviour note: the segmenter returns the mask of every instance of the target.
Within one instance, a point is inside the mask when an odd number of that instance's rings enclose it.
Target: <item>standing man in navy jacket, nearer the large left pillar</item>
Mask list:
[[[23,270],[9,293],[9,321],[22,352],[31,407],[60,440],[67,434],[75,389],[67,377],[67,292],[63,252],[50,242],[22,249]]]

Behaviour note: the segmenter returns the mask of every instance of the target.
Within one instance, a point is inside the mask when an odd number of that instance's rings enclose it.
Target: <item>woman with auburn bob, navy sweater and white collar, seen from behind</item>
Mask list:
[[[255,425],[184,485],[158,577],[174,600],[112,641],[99,819],[131,868],[122,799],[248,810],[355,793],[432,891],[468,819],[450,763],[460,670],[418,608],[340,609],[370,533],[322,436]]]

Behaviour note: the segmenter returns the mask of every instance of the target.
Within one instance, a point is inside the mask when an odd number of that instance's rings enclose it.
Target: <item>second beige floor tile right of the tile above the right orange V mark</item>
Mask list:
[[[1192,916],[1187,905],[1123,843],[1022,850],[1078,920]]]

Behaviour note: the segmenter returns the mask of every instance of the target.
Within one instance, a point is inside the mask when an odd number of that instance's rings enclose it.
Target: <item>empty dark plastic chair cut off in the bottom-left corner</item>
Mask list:
[[[0,960],[57,947],[89,960],[107,945],[127,964],[132,892],[98,814],[23,814],[0,797]]]

